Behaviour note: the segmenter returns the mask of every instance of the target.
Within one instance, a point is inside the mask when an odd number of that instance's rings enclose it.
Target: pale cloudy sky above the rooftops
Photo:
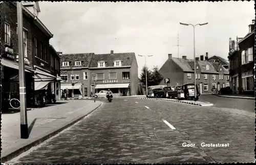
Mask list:
[[[254,1],[224,2],[39,2],[38,18],[53,34],[50,44],[63,54],[134,52],[138,72],[164,64],[168,54],[227,59],[229,37],[244,37],[255,19]]]

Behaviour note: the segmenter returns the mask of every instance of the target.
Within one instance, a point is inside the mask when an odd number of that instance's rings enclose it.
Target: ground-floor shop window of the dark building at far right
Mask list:
[[[242,73],[242,92],[249,94],[254,92],[254,78],[252,70]]]

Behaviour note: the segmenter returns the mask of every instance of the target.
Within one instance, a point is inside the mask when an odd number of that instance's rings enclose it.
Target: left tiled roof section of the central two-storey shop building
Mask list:
[[[63,54],[60,56],[60,63],[71,62],[69,67],[89,67],[94,53]],[[75,66],[75,61],[81,61],[81,66]],[[60,66],[60,68],[67,66]]]

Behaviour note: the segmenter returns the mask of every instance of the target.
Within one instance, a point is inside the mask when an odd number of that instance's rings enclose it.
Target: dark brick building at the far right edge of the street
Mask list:
[[[230,85],[236,94],[254,95],[254,23],[249,25],[249,32],[243,38],[237,38],[234,44],[229,44]]]

